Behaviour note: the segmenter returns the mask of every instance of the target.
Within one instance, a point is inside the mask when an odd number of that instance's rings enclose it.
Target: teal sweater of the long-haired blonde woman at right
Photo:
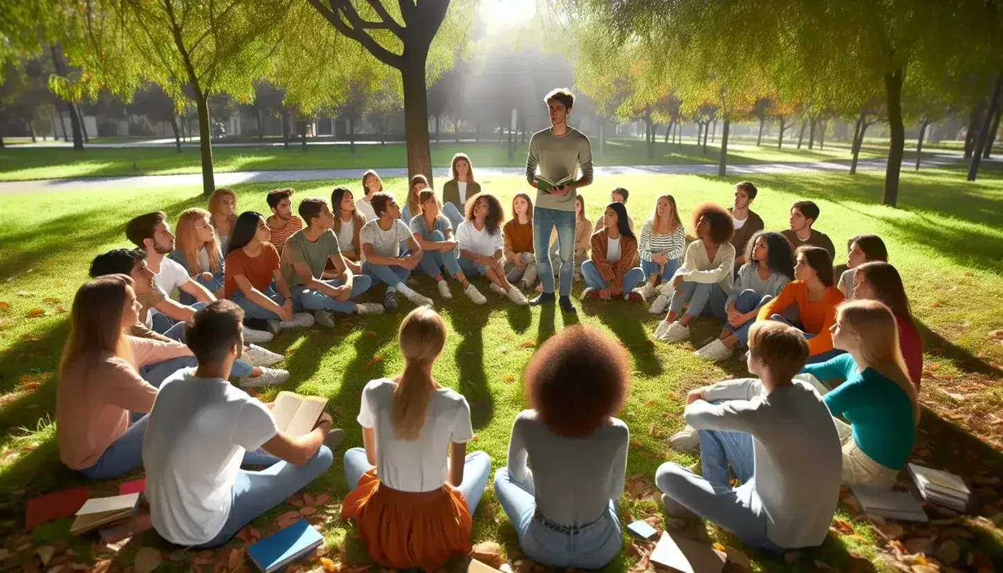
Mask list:
[[[801,370],[820,380],[846,381],[825,394],[832,415],[842,415],[854,427],[854,442],[869,458],[886,468],[901,470],[909,462],[916,439],[913,404],[905,390],[874,368],[857,371],[847,353]]]

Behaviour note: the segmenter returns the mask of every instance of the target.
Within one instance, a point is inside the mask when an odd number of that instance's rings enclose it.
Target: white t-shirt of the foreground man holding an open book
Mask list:
[[[153,528],[177,545],[211,541],[230,516],[244,454],[276,434],[265,404],[222,378],[180,370],[160,384],[142,440]]]

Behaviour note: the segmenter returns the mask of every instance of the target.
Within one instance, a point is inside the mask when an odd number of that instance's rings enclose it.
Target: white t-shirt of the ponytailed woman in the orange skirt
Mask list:
[[[449,388],[432,392],[425,424],[417,440],[398,440],[390,421],[397,384],[389,378],[370,380],[362,390],[358,422],[376,435],[376,473],[381,484],[400,492],[430,492],[445,483],[449,443],[473,438],[470,406]]]

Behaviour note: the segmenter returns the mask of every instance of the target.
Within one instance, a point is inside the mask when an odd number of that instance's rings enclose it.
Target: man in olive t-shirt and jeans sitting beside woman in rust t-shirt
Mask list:
[[[381,304],[354,302],[369,290],[372,279],[355,276],[345,264],[338,237],[332,231],[334,215],[327,200],[308,197],[300,202],[298,211],[307,226],[293,233],[282,252],[282,275],[293,299],[299,299],[303,308],[312,310],[317,324],[327,328],[334,328],[334,312],[383,314]],[[321,280],[328,261],[333,264],[337,278]]]

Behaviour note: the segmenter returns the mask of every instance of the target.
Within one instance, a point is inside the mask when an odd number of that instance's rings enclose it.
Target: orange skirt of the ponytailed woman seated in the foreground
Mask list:
[[[341,517],[355,520],[369,555],[391,569],[435,571],[472,549],[466,500],[449,484],[431,492],[400,492],[380,485],[372,469],[345,497]]]

